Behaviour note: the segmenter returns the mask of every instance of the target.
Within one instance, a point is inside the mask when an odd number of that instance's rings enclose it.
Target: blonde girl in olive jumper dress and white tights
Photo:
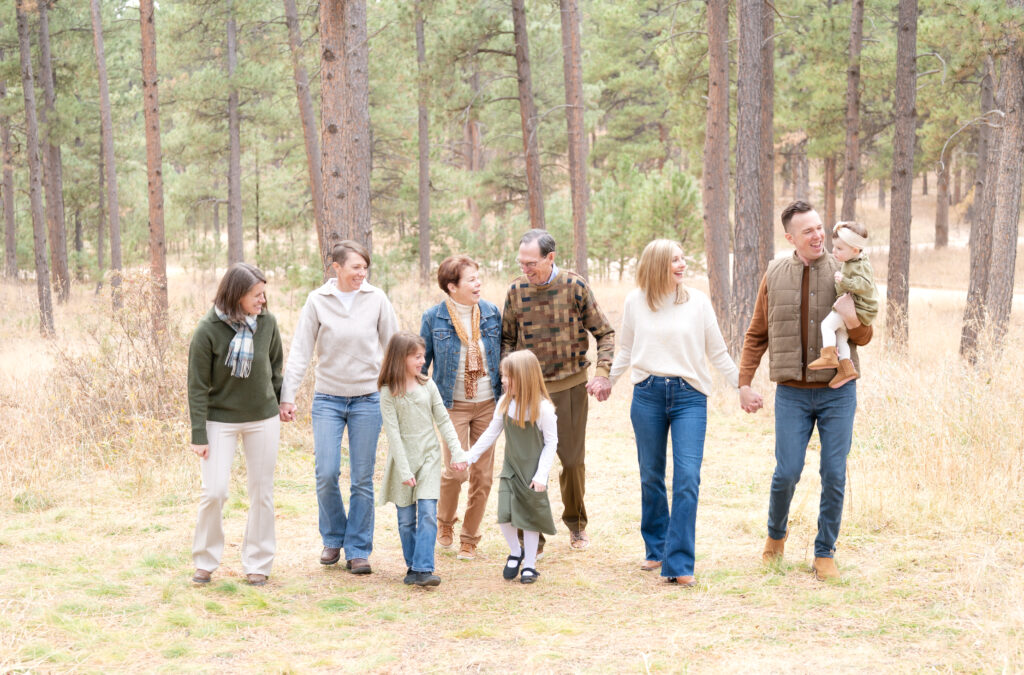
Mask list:
[[[509,544],[502,575],[532,584],[541,533],[555,534],[548,502],[548,472],[558,447],[555,407],[544,385],[541,364],[534,352],[513,351],[502,361],[502,388],[495,416],[469,451],[475,462],[505,431],[505,462],[498,484],[498,526]],[[522,530],[522,546],[517,530]],[[520,573],[521,568],[521,573]]]

